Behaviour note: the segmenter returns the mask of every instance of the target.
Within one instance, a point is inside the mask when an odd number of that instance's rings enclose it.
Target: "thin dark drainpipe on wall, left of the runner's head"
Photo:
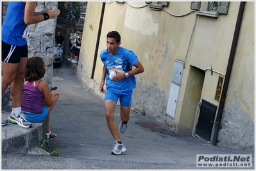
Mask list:
[[[94,78],[94,72],[96,68],[96,61],[97,61],[97,56],[98,56],[98,49],[99,49],[99,38],[101,37],[101,27],[102,27],[102,22],[103,22],[103,16],[104,16],[104,11],[105,11],[105,2],[102,4],[101,8],[101,19],[99,20],[99,30],[98,30],[98,36],[97,36],[97,41],[96,41],[96,47],[95,47],[95,54],[94,54],[94,60],[93,60],[93,66],[92,66],[92,75],[90,78]]]

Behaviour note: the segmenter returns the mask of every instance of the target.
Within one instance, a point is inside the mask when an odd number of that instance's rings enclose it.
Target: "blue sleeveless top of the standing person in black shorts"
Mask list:
[[[2,26],[2,41],[9,45],[26,45],[26,38],[22,38],[27,25],[24,22],[26,3],[10,1]]]

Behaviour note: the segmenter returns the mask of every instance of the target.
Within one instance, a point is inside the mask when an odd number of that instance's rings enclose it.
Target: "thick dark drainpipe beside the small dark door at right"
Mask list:
[[[241,2],[240,6],[239,6],[238,15],[237,15],[237,23],[235,24],[234,37],[233,37],[232,46],[231,46],[231,50],[230,50],[230,56],[228,59],[228,66],[226,68],[226,77],[224,80],[223,91],[221,94],[221,100],[219,102],[219,110],[218,110],[218,114],[217,114],[216,121],[215,121],[214,136],[212,139],[212,145],[214,145],[214,146],[217,144],[219,125],[221,124],[221,117],[222,117],[223,108],[225,105],[226,93],[228,91],[228,83],[230,80],[232,65],[233,65],[234,57],[235,57],[235,50],[237,47],[237,40],[239,37],[239,31],[240,31],[240,27],[241,27],[241,23],[242,23],[242,19],[243,19],[244,6],[245,6],[245,2]]]

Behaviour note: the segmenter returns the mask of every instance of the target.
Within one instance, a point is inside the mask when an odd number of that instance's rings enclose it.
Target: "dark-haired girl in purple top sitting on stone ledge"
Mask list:
[[[30,123],[40,123],[46,119],[46,139],[57,137],[49,128],[50,112],[58,100],[58,93],[51,91],[46,81],[41,80],[46,67],[41,57],[28,59],[23,84],[21,109]]]

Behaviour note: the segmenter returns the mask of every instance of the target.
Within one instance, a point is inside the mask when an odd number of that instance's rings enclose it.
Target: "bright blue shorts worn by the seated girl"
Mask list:
[[[42,110],[42,113],[40,114],[33,114],[29,112],[24,112],[24,111],[23,111],[23,114],[25,115],[25,118],[27,119],[27,121],[29,121],[30,123],[40,123],[44,121],[44,119],[46,119],[46,116],[48,114],[48,107],[46,105],[43,105],[43,110]]]

